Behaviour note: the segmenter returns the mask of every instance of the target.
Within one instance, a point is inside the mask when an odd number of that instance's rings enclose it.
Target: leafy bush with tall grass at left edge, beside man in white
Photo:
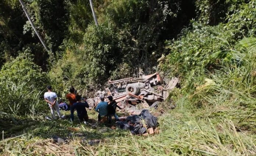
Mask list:
[[[42,92],[49,79],[46,73],[33,63],[32,57],[28,53],[21,53],[2,67],[0,111],[24,115],[45,110]]]

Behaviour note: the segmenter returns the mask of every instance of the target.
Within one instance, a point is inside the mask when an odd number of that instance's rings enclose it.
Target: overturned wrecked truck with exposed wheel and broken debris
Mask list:
[[[100,102],[100,96],[112,95],[117,103],[136,105],[142,103],[143,107],[157,107],[160,101],[164,101],[169,96],[169,90],[175,88],[178,78],[173,78],[164,84],[159,73],[142,75],[140,78],[124,78],[108,82],[108,88],[104,91],[96,92],[96,97],[87,99],[89,109],[93,109]],[[107,98],[105,99],[109,101]]]

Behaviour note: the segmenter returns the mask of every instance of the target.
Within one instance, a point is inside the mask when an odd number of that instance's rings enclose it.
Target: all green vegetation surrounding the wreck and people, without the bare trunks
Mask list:
[[[15,145],[0,141],[0,152],[256,154],[255,0],[95,0],[99,27],[88,0],[24,2],[50,51],[19,1],[1,1],[0,131],[4,138],[22,137]],[[70,86],[87,95],[108,79],[154,71],[181,80],[170,100],[151,110],[159,115],[160,134],[142,138],[103,125],[95,130],[66,120],[40,121],[49,113],[42,98],[48,84],[59,97]],[[171,110],[170,103],[177,107]],[[89,118],[96,119],[95,112]],[[90,146],[74,138],[49,151],[47,138],[67,137],[74,129],[102,143]]]

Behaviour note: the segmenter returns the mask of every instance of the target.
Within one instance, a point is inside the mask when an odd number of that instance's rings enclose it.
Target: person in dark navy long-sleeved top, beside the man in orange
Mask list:
[[[82,97],[80,95],[75,96],[75,99],[77,100],[77,102],[73,104],[73,107],[77,110],[78,119],[80,120],[80,122],[84,122],[86,124],[86,122],[88,122],[89,120],[86,108],[89,108],[89,105],[87,102],[81,102]]]

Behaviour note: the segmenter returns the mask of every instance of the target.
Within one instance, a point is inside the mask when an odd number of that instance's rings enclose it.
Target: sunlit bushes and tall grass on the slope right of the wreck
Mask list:
[[[198,119],[231,120],[237,131],[252,133],[256,130],[252,113],[256,96],[255,4],[250,1],[237,6],[225,24],[193,22],[179,40],[166,42],[170,54],[159,59],[167,76],[182,78],[182,89],[171,94],[174,103],[200,112]],[[250,38],[242,40],[244,36]],[[180,100],[183,96],[186,104]]]

